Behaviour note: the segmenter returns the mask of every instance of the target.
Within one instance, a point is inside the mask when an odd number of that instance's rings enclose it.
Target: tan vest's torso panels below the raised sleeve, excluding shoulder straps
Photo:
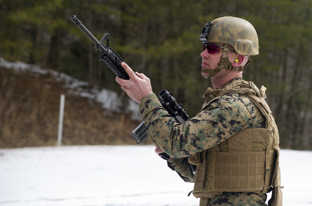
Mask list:
[[[232,143],[241,147],[235,147]],[[204,164],[197,166],[197,169],[202,168],[202,171],[198,171],[198,177],[195,178],[194,192],[254,191],[258,194],[266,193],[271,183],[276,159],[276,151],[271,150],[269,145],[269,130],[245,129],[241,131],[241,134],[237,133],[222,144],[206,150],[207,152],[203,154],[205,161],[202,163]]]

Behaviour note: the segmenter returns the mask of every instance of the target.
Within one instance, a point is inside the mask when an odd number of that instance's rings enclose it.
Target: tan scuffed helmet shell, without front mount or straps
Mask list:
[[[259,54],[256,29],[251,23],[237,17],[221,17],[213,20],[207,42],[230,44],[240,55]]]

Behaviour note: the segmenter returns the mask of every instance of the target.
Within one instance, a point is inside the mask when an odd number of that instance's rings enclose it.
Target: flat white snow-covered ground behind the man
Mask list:
[[[284,206],[312,205],[311,159],[281,150]],[[0,149],[0,206],[198,205],[192,189],[151,145]]]

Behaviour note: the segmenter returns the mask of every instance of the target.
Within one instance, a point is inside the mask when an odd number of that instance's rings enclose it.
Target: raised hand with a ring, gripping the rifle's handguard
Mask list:
[[[121,66],[129,75],[129,80],[116,77],[116,81],[121,85],[121,88],[127,92],[127,95],[134,101],[140,103],[144,97],[153,93],[151,81],[144,74],[132,71],[132,69],[124,62]]]

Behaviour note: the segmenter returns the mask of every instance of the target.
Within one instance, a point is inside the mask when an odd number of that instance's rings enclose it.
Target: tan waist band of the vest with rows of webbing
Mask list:
[[[206,191],[258,191],[266,193],[274,169],[275,150],[262,152],[218,152],[214,154],[214,182]],[[208,159],[209,157],[206,156]],[[215,160],[215,162],[213,162]],[[209,161],[209,160],[208,160]],[[208,165],[208,164],[207,164]],[[268,175],[266,175],[268,174]],[[265,179],[263,177],[266,177]],[[213,188],[212,188],[213,187]]]

